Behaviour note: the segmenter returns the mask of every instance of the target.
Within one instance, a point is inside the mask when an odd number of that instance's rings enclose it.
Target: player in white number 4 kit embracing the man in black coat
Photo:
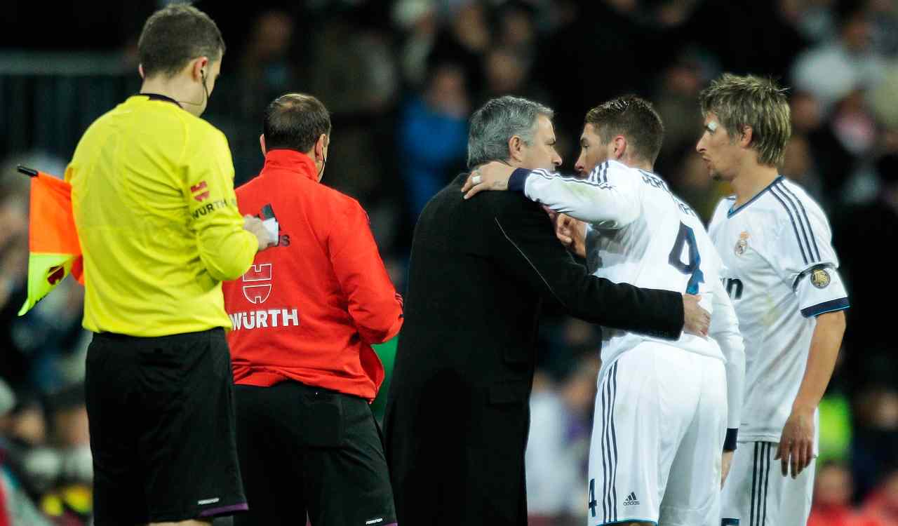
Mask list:
[[[718,526],[726,435],[735,446],[743,340],[700,219],[652,172],[663,136],[647,101],[621,97],[586,115],[577,170],[587,178],[492,163],[463,188],[521,190],[589,224],[581,250],[596,276],[701,294],[711,309],[711,338],[603,329],[588,526]]]

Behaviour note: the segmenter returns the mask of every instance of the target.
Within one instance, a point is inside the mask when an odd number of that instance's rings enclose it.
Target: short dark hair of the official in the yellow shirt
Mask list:
[[[225,39],[209,15],[187,4],[171,4],[146,19],[137,40],[144,75],[171,78],[196,57],[219,60]]]

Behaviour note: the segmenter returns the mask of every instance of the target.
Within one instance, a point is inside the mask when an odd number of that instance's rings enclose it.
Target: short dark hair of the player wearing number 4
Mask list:
[[[602,142],[625,136],[633,154],[655,163],[665,140],[665,125],[652,103],[636,95],[624,95],[599,104],[586,112],[584,124],[591,124]]]

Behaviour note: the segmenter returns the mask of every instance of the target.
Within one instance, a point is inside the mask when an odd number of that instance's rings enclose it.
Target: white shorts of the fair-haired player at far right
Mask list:
[[[720,499],[722,523],[741,526],[807,523],[816,460],[812,460],[794,480],[783,477],[779,460],[773,459],[778,447],[775,442],[740,442],[736,445]]]

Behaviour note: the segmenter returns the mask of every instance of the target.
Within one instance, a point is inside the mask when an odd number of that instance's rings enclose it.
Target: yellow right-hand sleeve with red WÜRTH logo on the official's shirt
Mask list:
[[[218,130],[212,130],[202,147],[188,148],[183,165],[187,174],[184,196],[199,258],[217,281],[236,279],[252,264],[259,242],[243,230],[243,217],[233,192],[233,162],[227,139]]]

